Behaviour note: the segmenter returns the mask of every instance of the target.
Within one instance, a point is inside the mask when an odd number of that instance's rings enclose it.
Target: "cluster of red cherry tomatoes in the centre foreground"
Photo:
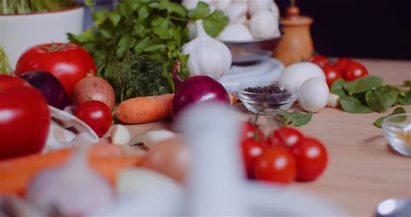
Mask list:
[[[241,147],[249,179],[281,184],[311,181],[327,166],[324,145],[291,127],[275,129],[265,138],[260,128],[245,122]]]

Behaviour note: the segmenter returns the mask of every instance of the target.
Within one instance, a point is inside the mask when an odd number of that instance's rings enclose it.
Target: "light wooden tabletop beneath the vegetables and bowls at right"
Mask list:
[[[401,84],[411,79],[411,61],[357,60],[369,74],[382,77],[385,83]],[[245,117],[250,115],[245,111]],[[296,104],[294,109],[299,109]],[[404,106],[411,112],[411,106]],[[391,113],[394,108],[389,109]],[[375,207],[387,198],[411,197],[411,158],[391,150],[382,129],[373,122],[383,114],[351,114],[340,109],[325,108],[313,115],[309,124],[300,127],[303,134],[323,141],[329,163],[323,175],[314,182],[295,182],[290,188],[301,188],[346,211],[348,216],[373,216]],[[384,114],[385,115],[385,114]],[[274,126],[270,116],[260,116],[258,124],[265,131]],[[127,126],[137,134],[153,126],[169,128],[169,122]],[[102,138],[104,142],[107,138]],[[297,208],[297,207],[296,207]]]

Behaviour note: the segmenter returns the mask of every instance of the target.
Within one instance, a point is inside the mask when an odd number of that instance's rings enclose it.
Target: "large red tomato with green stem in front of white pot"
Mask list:
[[[24,51],[17,61],[15,74],[46,71],[54,74],[63,84],[68,99],[72,88],[86,77],[87,72],[97,72],[93,58],[88,52],[72,43],[37,45]]]

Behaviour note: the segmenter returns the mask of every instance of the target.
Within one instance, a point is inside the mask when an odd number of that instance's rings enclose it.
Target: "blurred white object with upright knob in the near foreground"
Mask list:
[[[177,121],[192,151],[183,194],[121,198],[93,216],[343,216],[332,204],[287,186],[249,182],[240,155],[240,118],[233,107],[189,107]],[[159,186],[161,188],[161,186]]]

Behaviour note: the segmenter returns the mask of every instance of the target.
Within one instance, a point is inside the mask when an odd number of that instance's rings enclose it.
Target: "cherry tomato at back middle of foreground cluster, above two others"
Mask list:
[[[267,143],[271,145],[291,146],[297,143],[298,140],[304,138],[301,132],[292,127],[281,127],[272,131],[268,136]]]

